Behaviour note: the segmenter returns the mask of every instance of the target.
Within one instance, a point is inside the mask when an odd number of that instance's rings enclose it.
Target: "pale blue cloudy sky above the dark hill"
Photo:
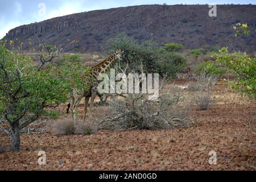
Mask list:
[[[56,16],[112,7],[163,4],[255,4],[255,0],[0,0],[0,39],[12,28]]]

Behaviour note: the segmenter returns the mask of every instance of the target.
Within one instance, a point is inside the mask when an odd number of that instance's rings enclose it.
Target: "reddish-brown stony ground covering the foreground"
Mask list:
[[[212,109],[191,108],[193,125],[173,130],[98,131],[92,135],[23,134],[21,151],[10,152],[10,138],[0,133],[2,170],[255,170],[256,104],[214,89]],[[81,108],[82,109],[82,108]],[[249,124],[251,123],[251,124]],[[47,163],[38,164],[38,151]],[[217,164],[209,164],[209,152]]]

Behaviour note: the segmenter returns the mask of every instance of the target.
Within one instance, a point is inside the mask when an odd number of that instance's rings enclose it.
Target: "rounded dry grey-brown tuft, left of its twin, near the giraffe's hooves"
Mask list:
[[[55,135],[72,135],[75,131],[75,123],[71,118],[58,119],[52,126],[52,133]]]

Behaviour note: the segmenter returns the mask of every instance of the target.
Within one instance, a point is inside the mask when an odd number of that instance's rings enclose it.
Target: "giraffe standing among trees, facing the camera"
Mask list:
[[[110,56],[108,56],[104,61],[101,63],[94,65],[91,67],[90,73],[84,73],[81,77],[83,80],[84,89],[76,89],[73,88],[71,92],[71,102],[68,104],[67,113],[69,111],[69,108],[71,109],[72,117],[74,121],[76,120],[76,114],[77,114],[77,107],[84,97],[84,115],[82,117],[83,121],[85,121],[86,113],[88,111],[88,106],[93,106],[93,101],[97,94],[97,86],[98,86],[98,80],[97,77],[100,73],[105,73],[108,71],[115,60],[119,59],[122,60],[122,53],[123,51],[121,49],[116,49],[114,53]],[[87,79],[86,79],[87,78]],[[88,80],[89,78],[89,80]],[[86,87],[88,89],[86,89]],[[90,104],[89,104],[90,99]]]

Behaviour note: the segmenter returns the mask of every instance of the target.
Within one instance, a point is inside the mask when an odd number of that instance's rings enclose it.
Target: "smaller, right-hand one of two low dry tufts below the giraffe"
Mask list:
[[[96,125],[92,122],[77,122],[76,123],[76,134],[90,135],[96,133]]]

